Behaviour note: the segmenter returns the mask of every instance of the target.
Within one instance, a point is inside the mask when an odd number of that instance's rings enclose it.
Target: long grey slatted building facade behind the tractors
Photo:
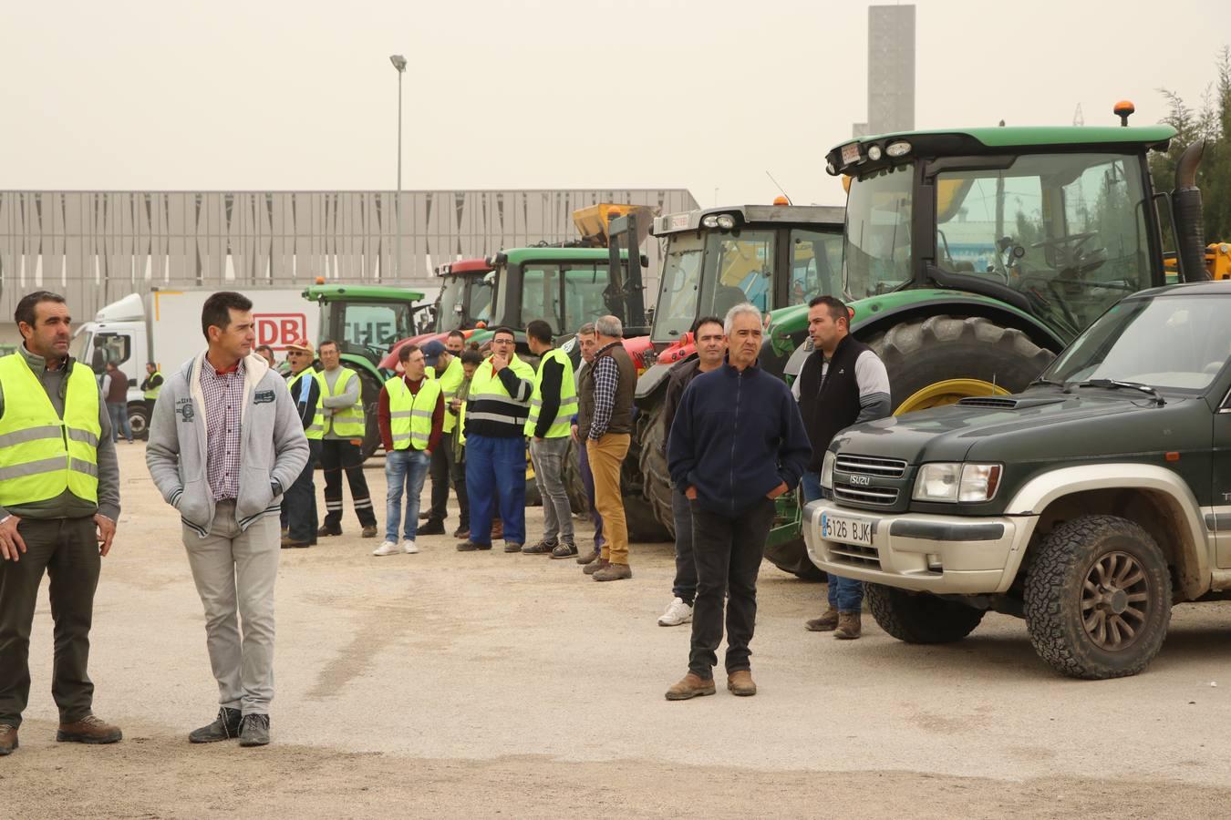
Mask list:
[[[399,225],[394,200],[390,191],[0,191],[0,311],[11,316],[41,288],[86,318],[151,286],[286,288],[316,277],[430,286],[443,262],[576,237],[579,208],[697,208],[683,189],[405,191]],[[657,243],[643,251],[652,288]]]

